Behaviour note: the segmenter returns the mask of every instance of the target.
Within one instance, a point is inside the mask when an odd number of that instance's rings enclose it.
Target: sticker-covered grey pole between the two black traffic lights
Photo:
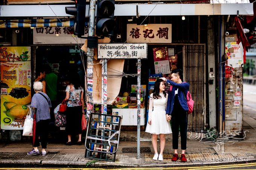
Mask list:
[[[94,36],[96,0],[90,0],[88,36]],[[89,101],[87,104],[87,115],[93,110],[93,54],[94,48],[87,50],[87,90]]]

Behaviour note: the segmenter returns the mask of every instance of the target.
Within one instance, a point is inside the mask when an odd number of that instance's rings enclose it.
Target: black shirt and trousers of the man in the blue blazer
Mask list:
[[[178,149],[178,137],[180,128],[181,149],[187,149],[187,111],[185,111],[180,102],[176,99],[172,110],[172,149]]]

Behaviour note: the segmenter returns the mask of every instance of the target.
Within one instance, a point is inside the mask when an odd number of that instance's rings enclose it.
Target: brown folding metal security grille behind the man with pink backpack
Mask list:
[[[188,118],[188,131],[204,130],[206,103],[204,45],[183,46],[183,80],[190,84],[189,91],[195,101],[194,111]]]

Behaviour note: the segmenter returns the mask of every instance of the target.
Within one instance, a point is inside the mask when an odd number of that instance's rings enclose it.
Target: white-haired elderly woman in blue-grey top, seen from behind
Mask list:
[[[48,139],[48,127],[50,121],[50,107],[52,107],[50,98],[46,93],[42,92],[43,83],[35,81],[33,88],[35,94],[32,97],[31,105],[36,110],[36,130],[35,141],[32,142],[33,149],[27,152],[27,155],[46,155],[47,139]],[[48,109],[47,109],[48,108]],[[38,146],[40,146],[39,138],[41,141],[42,151],[39,152]]]

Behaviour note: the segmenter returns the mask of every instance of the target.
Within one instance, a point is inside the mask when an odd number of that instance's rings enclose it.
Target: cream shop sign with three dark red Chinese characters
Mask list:
[[[127,24],[127,42],[171,43],[172,24]]]

